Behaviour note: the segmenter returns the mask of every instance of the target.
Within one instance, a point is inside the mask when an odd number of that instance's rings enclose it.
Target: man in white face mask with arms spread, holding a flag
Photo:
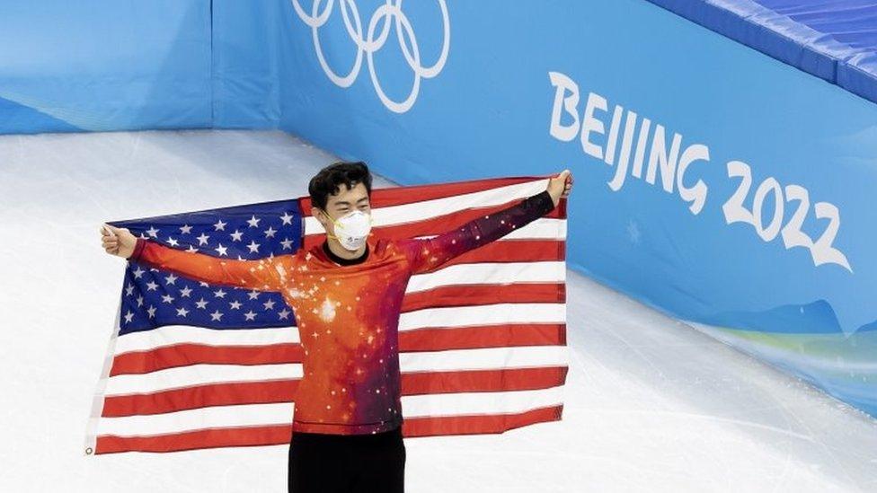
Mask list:
[[[334,163],[308,186],[312,214],[326,231],[320,246],[272,259],[224,260],[109,224],[102,244],[111,254],[199,281],[281,293],[295,313],[304,351],[289,491],[401,492],[398,324],[409,278],[545,216],[571,187],[564,170],[545,191],[433,238],[376,238],[368,166]]]

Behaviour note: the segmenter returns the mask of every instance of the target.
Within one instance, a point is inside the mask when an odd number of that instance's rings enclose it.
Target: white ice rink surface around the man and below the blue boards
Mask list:
[[[306,195],[335,159],[281,132],[0,136],[0,491],[286,491],[288,446],[84,455],[124,270],[99,227]],[[563,420],[408,438],[406,491],[877,491],[877,421],[572,271],[567,295]]]

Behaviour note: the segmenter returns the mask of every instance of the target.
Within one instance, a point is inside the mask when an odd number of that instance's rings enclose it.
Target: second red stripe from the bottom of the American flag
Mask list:
[[[452,392],[501,392],[545,389],[561,385],[566,366],[511,368],[464,372],[431,372],[402,375],[403,395]],[[218,383],[187,389],[109,396],[104,417],[122,417],[173,412],[208,406],[229,406],[294,401],[299,379]]]

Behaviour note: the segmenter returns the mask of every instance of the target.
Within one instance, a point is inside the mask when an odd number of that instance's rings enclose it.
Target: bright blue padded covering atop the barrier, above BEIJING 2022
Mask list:
[[[649,0],[877,102],[877,0]]]

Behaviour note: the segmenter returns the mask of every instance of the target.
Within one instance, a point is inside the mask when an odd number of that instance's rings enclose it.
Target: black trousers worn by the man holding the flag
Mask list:
[[[289,493],[403,493],[402,427],[369,435],[295,432],[288,483]]]

